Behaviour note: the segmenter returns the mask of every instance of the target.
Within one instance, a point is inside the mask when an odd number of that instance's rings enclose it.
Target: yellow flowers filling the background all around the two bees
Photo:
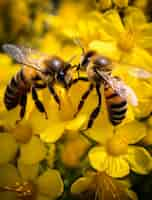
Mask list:
[[[151,0],[0,0],[0,46],[13,43],[79,64],[82,49],[152,72]],[[152,195],[152,78],[138,79],[124,65],[114,70],[135,90],[138,106],[114,127],[104,94],[93,127],[83,131],[96,106],[93,91],[73,118],[88,83],[55,89],[61,109],[38,92],[46,120],[28,95],[26,115],[7,111],[4,92],[21,68],[0,48],[0,199],[147,200]],[[78,95],[79,94],[79,95]]]

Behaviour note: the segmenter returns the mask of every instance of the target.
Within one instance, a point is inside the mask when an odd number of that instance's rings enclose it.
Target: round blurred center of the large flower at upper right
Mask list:
[[[135,33],[132,30],[120,33],[117,45],[122,51],[131,51],[135,46]]]

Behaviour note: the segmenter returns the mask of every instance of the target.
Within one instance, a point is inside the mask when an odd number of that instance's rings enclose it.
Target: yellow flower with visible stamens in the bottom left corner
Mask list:
[[[7,164],[0,167],[0,197],[7,199],[8,191],[11,197],[53,200],[63,193],[63,181],[55,169],[47,169],[39,175],[38,165],[23,166],[21,163],[17,169]]]

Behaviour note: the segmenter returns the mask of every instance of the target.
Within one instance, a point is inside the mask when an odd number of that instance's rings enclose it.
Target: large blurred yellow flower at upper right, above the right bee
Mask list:
[[[146,49],[151,48],[152,25],[146,21],[141,10],[128,8],[124,25],[118,12],[110,10],[103,14],[100,23],[111,39],[100,38],[100,41],[95,39],[96,41],[92,41],[89,45],[91,49],[115,60],[150,69],[152,57]]]

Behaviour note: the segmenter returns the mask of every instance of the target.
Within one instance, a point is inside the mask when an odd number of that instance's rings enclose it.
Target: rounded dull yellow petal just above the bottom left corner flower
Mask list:
[[[20,160],[24,164],[36,164],[46,156],[46,147],[37,136],[33,136],[27,144],[21,145]]]

